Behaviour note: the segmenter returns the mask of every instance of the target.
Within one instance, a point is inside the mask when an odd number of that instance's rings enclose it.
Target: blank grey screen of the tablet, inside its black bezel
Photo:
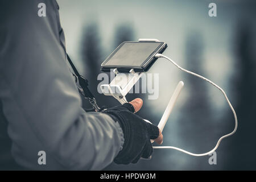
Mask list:
[[[109,56],[105,65],[140,67],[161,44],[161,42],[125,42]]]

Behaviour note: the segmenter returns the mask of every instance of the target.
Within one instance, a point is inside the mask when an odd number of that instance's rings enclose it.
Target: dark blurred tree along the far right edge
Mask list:
[[[250,24],[240,23],[235,36],[236,63],[232,80],[232,94],[236,98],[234,109],[237,113],[238,129],[237,133],[228,140],[227,169],[256,169],[256,122],[253,117],[256,111],[256,60],[253,54],[255,44],[253,44],[254,37],[251,31]],[[233,122],[232,114],[228,114],[225,119]]]

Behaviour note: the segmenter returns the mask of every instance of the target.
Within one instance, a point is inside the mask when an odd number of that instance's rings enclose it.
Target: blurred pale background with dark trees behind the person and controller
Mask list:
[[[209,3],[217,5],[210,17]],[[106,170],[232,170],[256,169],[256,2],[255,1],[68,1],[59,0],[61,25],[67,51],[89,80],[98,103],[118,104],[113,97],[97,93],[100,64],[119,43],[156,38],[168,44],[164,55],[181,67],[220,85],[238,117],[235,135],[222,140],[217,164],[210,156],[195,157],[175,150],[154,150],[151,160],[138,164],[110,164]],[[234,118],[219,90],[200,78],[179,71],[158,59],[149,73],[159,73],[159,98],[141,97],[138,115],[157,124],[177,83],[184,88],[163,131],[164,146],[203,153],[234,129]],[[88,102],[84,103],[88,107]]]

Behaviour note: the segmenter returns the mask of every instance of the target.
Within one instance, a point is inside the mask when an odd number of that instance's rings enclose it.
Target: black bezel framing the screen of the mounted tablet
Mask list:
[[[143,61],[141,66],[117,66],[117,65],[105,65],[108,63],[109,59],[117,52],[125,43],[160,43],[160,45],[151,53],[150,56],[147,57],[145,61]],[[164,49],[166,49],[167,44],[164,42],[154,42],[154,41],[126,41],[122,42],[114,51],[105,59],[105,61],[101,64],[101,71],[110,72],[110,69],[117,68],[118,72],[129,72],[130,69],[134,69],[135,72],[147,72],[148,69],[154,64],[156,61],[156,57],[154,55],[156,53],[162,53]]]

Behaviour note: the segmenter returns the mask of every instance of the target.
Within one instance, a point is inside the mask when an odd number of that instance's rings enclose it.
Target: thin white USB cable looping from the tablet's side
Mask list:
[[[230,109],[232,110],[232,112],[234,114],[235,127],[234,127],[234,130],[232,131],[232,133],[226,134],[226,135],[222,136],[220,139],[218,139],[218,142],[217,142],[216,146],[211,151],[203,153],[203,154],[193,154],[192,152],[188,152],[188,151],[185,151],[185,150],[183,150],[181,148],[172,147],[172,146],[154,146],[153,148],[170,148],[170,149],[178,150],[178,151],[184,152],[185,154],[189,154],[189,155],[193,155],[193,156],[204,156],[204,155],[211,154],[212,152],[214,152],[218,148],[218,146],[219,146],[219,144],[220,144],[222,139],[224,139],[226,137],[229,137],[230,135],[233,135],[236,132],[236,130],[237,130],[237,115],[236,115],[236,111],[234,111],[233,106],[230,104],[230,101],[229,101],[228,97],[226,96],[226,93],[224,92],[224,90],[222,88],[220,88],[220,86],[218,86],[217,84],[214,84],[214,82],[208,80],[207,78],[205,78],[205,77],[203,77],[201,75],[198,75],[196,73],[188,71],[187,69],[181,68],[179,65],[177,65],[175,63],[175,61],[171,60],[169,57],[164,56],[164,55],[162,55],[160,53],[157,53],[155,55],[155,57],[157,57],[157,58],[163,57],[163,58],[167,59],[168,61],[171,61],[171,63],[174,64],[177,68],[181,69],[181,71],[187,72],[187,73],[189,73],[191,75],[197,76],[197,77],[199,77],[199,78],[201,78],[201,79],[203,79],[205,81],[208,81],[210,84],[212,84],[217,89],[219,89],[224,94],[224,97],[225,97],[226,101],[228,102],[229,107],[230,107]]]

